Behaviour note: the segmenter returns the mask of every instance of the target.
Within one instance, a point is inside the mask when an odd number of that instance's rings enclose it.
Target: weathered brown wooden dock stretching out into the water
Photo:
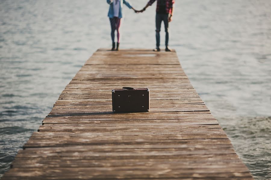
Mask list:
[[[150,111],[113,113],[111,90],[149,88]],[[6,179],[253,179],[176,52],[97,50]]]

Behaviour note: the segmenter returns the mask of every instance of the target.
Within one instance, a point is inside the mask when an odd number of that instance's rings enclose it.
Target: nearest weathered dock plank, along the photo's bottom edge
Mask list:
[[[183,169],[179,170],[178,167],[156,167],[152,170],[144,170],[145,166],[141,168],[133,167],[111,167],[111,168],[58,168],[58,169],[42,169],[42,168],[14,168],[13,172],[8,173],[10,177],[35,177],[35,179],[167,179],[167,178],[206,178],[213,179],[215,177],[220,178],[237,178],[243,177],[251,179],[251,175],[247,171],[242,171],[241,167],[235,167],[231,169],[220,168],[195,168],[195,169]],[[238,172],[238,173],[236,173]],[[34,178],[33,178],[34,179]]]

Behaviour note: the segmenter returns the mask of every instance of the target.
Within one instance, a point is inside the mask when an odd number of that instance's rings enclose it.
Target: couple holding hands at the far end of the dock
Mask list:
[[[121,19],[123,17],[122,8],[123,4],[125,4],[130,9],[134,10],[135,13],[143,12],[146,10],[148,6],[154,3],[156,0],[150,0],[147,5],[142,10],[135,10],[129,3],[128,0],[106,0],[108,4],[110,4],[108,17],[110,20],[111,25],[111,38],[112,38],[112,51],[119,50],[120,46],[120,24]],[[154,51],[160,51],[160,29],[161,23],[164,21],[165,32],[166,32],[166,51],[171,51],[168,47],[168,39],[169,39],[169,22],[172,21],[173,16],[173,4],[175,0],[157,0],[156,6],[156,17],[155,17],[155,24],[156,24],[156,48]],[[115,30],[117,30],[117,47],[115,46]],[[116,47],[116,49],[115,49]]]

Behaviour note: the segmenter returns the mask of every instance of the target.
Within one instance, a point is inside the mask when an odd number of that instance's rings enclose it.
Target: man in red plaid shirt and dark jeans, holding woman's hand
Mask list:
[[[143,12],[146,10],[148,6],[151,6],[151,4],[154,3],[156,0],[150,0],[148,4],[140,11]],[[171,51],[168,47],[168,39],[169,39],[169,32],[168,32],[168,23],[172,21],[173,16],[173,4],[175,3],[175,0],[157,0],[157,6],[156,6],[156,18],[155,18],[155,24],[156,24],[156,48],[154,51],[160,51],[160,29],[161,29],[161,23],[164,21],[165,25],[165,32],[166,32],[166,51]]]

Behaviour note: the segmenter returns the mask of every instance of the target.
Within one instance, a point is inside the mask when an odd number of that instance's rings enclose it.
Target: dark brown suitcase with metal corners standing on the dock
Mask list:
[[[150,109],[148,88],[129,88],[112,90],[114,112],[147,112]]]

